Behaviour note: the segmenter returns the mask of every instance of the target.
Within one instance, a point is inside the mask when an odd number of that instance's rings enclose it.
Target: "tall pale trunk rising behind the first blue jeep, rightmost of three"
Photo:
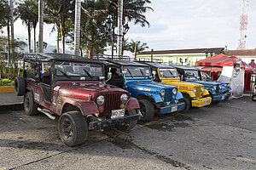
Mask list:
[[[122,43],[123,43],[123,0],[118,3],[118,39],[117,39],[117,53],[118,57],[122,57]]]

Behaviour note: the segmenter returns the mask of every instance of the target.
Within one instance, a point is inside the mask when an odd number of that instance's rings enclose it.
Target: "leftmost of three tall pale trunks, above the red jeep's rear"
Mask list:
[[[39,49],[39,53],[43,53],[44,52],[44,40],[43,40],[44,0],[38,1],[38,22],[39,22],[38,49]]]

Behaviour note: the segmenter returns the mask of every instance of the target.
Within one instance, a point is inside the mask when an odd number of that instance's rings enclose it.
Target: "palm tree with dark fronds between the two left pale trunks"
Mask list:
[[[74,0],[45,0],[45,15],[47,18],[53,17],[57,26],[61,29],[61,42],[63,54],[65,54],[65,37],[67,34],[66,23],[74,15]]]

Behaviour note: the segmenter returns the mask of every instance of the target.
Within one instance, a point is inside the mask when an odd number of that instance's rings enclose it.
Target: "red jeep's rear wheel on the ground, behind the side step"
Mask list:
[[[31,92],[27,92],[24,98],[24,110],[26,115],[38,115],[38,104],[35,103]]]

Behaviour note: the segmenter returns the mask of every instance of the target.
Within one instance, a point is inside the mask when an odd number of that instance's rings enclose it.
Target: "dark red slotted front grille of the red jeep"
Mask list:
[[[103,115],[104,116],[111,116],[112,110],[120,109],[121,94],[119,94],[119,93],[109,93],[109,94],[103,94],[103,95],[105,97]]]

